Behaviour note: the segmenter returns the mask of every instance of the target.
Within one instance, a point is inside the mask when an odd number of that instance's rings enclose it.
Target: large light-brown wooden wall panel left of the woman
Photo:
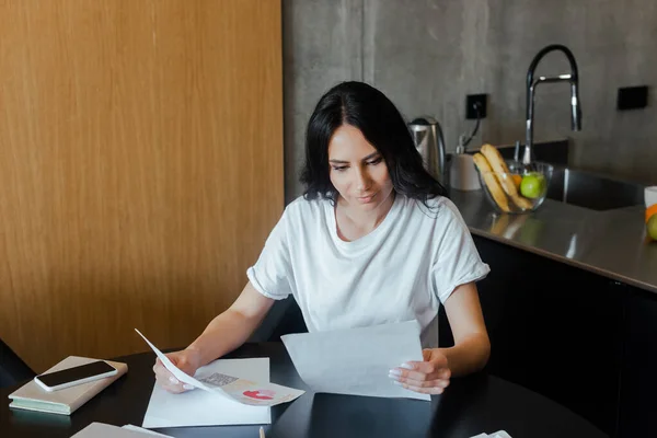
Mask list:
[[[0,1],[0,337],[191,342],[283,211],[280,3]]]

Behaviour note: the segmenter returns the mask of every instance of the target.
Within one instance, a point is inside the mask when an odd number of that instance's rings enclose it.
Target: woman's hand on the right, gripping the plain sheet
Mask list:
[[[390,370],[394,383],[423,394],[442,394],[449,385],[451,371],[447,357],[438,348],[422,351],[424,361],[408,361]]]

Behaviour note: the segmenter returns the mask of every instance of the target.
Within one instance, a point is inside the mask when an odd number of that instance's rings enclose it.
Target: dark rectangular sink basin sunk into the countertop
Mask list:
[[[587,171],[555,166],[546,197],[593,210],[611,210],[643,205],[644,186]]]

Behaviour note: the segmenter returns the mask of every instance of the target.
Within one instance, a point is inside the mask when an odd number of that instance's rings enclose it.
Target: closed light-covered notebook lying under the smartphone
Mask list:
[[[93,362],[95,360],[99,359],[69,356],[46,372],[59,371],[62,369],[77,367],[79,365]],[[115,376],[106,377],[93,382],[82,383],[76,387],[65,388],[58,391],[47,392],[36,384],[34,380],[31,380],[9,395],[9,397],[12,400],[12,402],[9,404],[9,407],[47,412],[60,415],[71,415],[91,397],[128,372],[127,364],[113,362],[111,360],[107,360],[107,364],[117,369],[118,372]]]

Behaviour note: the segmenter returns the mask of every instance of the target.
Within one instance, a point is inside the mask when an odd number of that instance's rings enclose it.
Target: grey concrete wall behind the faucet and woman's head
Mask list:
[[[525,141],[525,81],[549,44],[578,62],[583,130],[570,131],[569,90],[538,90],[534,140],[569,137],[572,165],[657,184],[657,108],[615,110],[619,87],[657,81],[655,0],[284,0],[286,199],[301,193],[298,169],[314,104],[343,80],[379,88],[408,118],[429,114],[448,152],[465,120],[465,95],[488,94],[471,147]],[[567,72],[560,54],[540,74]]]

